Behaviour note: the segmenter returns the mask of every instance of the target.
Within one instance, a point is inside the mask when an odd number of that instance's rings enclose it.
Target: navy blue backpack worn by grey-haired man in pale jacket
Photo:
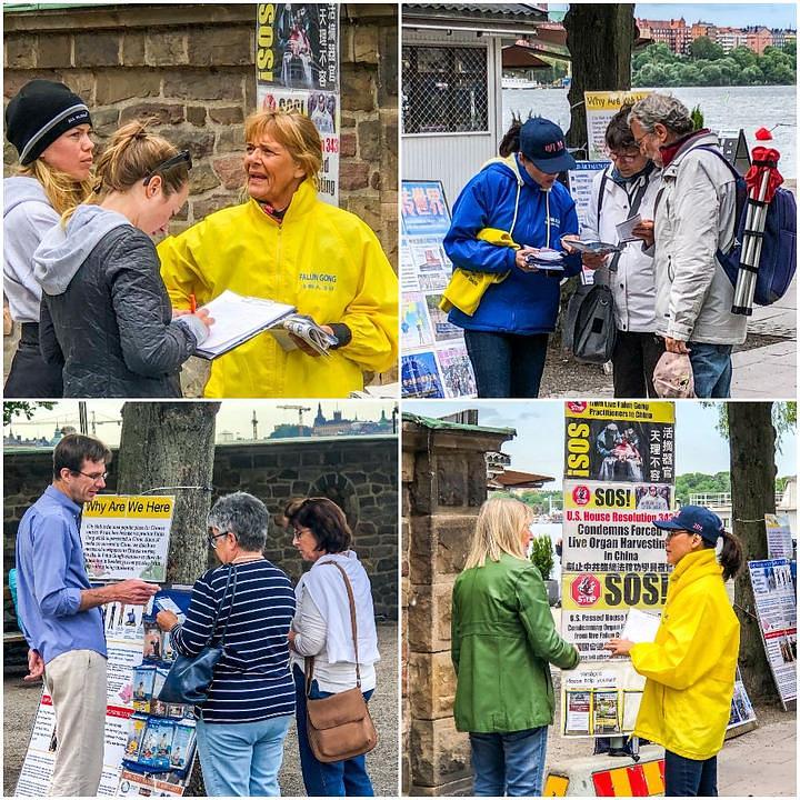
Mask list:
[[[724,253],[717,250],[717,260],[722,266],[728,280],[736,287],[742,256],[742,240],[748,212],[748,186],[728,159],[714,148],[701,146],[697,150],[707,150],[720,158],[736,179],[736,238],[731,249]],[[771,306],[780,300],[789,289],[797,269],[797,203],[794,196],[787,189],[778,188],[767,207],[767,219],[761,239],[761,258],[756,273],[757,306]],[[742,266],[742,269],[748,269]],[[737,311],[742,313],[742,311]],[[743,310],[748,314],[751,310]]]

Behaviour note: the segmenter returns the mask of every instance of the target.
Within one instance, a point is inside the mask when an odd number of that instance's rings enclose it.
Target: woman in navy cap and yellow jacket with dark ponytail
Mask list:
[[[611,639],[606,649],[630,654],[647,678],[633,734],[664,747],[666,797],[717,797],[717,753],[739,656],[739,620],[724,581],[741,567],[741,547],[702,506],[684,506],[653,524],[667,531],[667,561],[674,567],[656,641]]]

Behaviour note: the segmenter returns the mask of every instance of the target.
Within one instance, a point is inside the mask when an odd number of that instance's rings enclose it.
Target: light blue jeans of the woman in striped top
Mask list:
[[[208,797],[280,797],[278,771],[291,714],[233,724],[198,720]]]

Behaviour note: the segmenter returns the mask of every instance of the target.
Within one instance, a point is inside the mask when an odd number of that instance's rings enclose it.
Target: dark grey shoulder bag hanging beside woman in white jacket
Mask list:
[[[603,364],[617,343],[613,294],[601,283],[579,284],[567,306],[563,347],[578,361]]]

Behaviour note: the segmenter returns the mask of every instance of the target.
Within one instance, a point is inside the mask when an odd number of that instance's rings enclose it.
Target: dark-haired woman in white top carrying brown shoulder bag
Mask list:
[[[358,656],[364,700],[376,688],[374,663],[378,634],[369,578],[350,550],[352,533],[344,512],[328,498],[291,501],[283,512],[293,530],[292,542],[311,569],[294,590],[297,613],[289,632],[292,672],[297,689],[297,726],[300,766],[309,797],[372,797],[366,757],[322,763],[309,746],[306,719],[307,659],[313,658],[310,698],[324,698],[357,686],[356,650],[352,641],[350,602],[341,572],[352,587],[358,627]]]

